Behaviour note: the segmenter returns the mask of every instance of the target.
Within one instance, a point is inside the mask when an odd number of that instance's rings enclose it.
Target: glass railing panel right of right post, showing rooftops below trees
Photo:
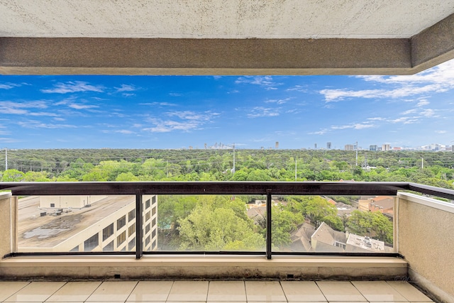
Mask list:
[[[272,196],[272,250],[394,253],[394,196]]]

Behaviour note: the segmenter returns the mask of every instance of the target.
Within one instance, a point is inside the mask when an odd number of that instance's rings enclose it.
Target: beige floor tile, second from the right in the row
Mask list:
[[[397,290],[394,290],[394,288],[384,281],[353,281],[352,284],[369,301],[406,301],[402,294],[399,294]]]

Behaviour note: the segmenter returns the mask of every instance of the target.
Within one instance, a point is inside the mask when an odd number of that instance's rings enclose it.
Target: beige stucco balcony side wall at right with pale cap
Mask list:
[[[442,302],[454,302],[454,204],[399,193],[398,249],[409,278]]]

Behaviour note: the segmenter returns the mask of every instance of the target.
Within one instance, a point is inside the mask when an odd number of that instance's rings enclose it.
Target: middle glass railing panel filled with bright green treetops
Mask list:
[[[158,199],[158,251],[265,251],[264,196],[160,195]]]

